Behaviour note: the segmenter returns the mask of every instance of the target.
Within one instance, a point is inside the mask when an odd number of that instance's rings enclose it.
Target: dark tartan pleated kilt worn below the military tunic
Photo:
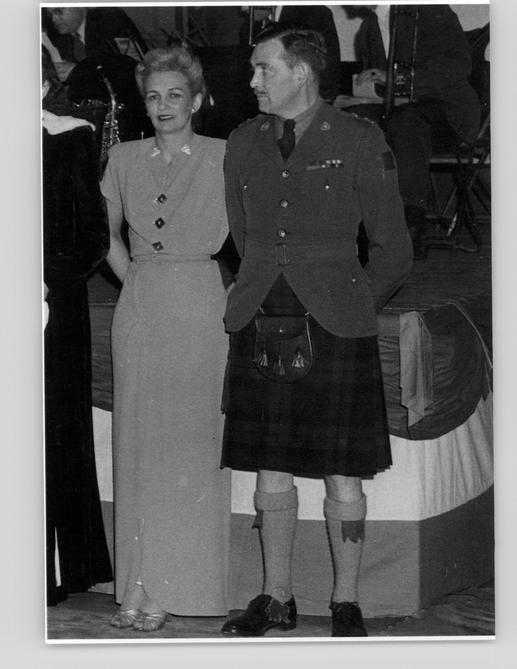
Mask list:
[[[263,309],[305,313],[283,275]],[[313,367],[293,383],[256,369],[254,320],[231,333],[221,466],[323,478],[373,476],[391,465],[377,337],[345,339],[309,322]]]

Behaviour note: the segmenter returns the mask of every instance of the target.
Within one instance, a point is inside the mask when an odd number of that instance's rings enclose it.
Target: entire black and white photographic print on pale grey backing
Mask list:
[[[46,644],[496,638],[489,8],[39,5]]]

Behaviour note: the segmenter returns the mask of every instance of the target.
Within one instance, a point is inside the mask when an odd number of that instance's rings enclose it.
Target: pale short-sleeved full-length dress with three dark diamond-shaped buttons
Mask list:
[[[228,612],[224,148],[194,135],[166,165],[154,138],[125,142],[101,185],[132,257],[112,325],[116,600],[141,580],[176,615]]]

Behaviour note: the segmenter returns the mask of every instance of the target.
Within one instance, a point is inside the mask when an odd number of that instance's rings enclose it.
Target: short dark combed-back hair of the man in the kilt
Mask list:
[[[327,67],[327,45],[317,30],[294,23],[274,23],[258,33],[255,46],[271,39],[281,41],[290,68],[300,62],[307,63],[317,80]]]

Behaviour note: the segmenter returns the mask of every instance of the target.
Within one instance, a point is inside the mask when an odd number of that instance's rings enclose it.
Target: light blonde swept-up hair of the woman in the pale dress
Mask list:
[[[146,95],[146,80],[154,72],[180,72],[187,80],[192,97],[198,93],[204,97],[206,87],[201,62],[186,45],[175,44],[147,52],[135,69],[136,85],[142,97]]]

